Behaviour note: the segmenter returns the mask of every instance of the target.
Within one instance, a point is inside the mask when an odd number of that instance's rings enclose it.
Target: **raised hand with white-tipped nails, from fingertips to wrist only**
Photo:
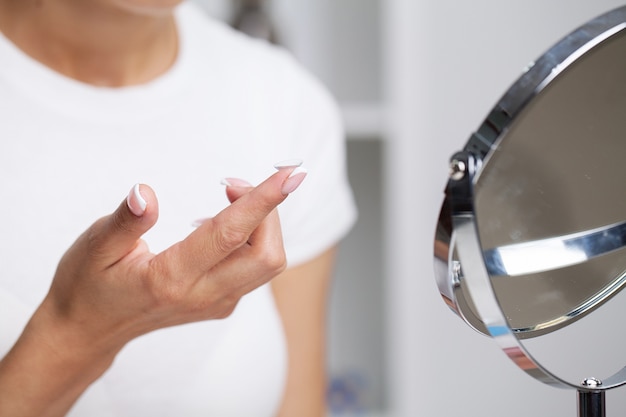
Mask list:
[[[154,193],[141,186],[68,250],[44,307],[89,344],[111,349],[157,328],[228,316],[285,268],[275,207],[290,173],[274,174],[158,255],[139,240],[158,215]],[[136,197],[146,203],[140,216],[129,209]]]

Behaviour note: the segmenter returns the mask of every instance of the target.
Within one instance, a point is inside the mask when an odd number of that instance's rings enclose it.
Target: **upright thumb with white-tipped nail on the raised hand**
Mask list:
[[[88,231],[90,254],[103,266],[110,266],[130,253],[157,221],[158,201],[154,191],[136,184],[125,201]]]

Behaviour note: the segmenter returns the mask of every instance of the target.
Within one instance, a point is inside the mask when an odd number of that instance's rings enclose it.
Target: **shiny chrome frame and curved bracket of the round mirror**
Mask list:
[[[595,378],[579,382],[566,381],[544,368],[521,343],[524,338],[548,333],[566,326],[572,318],[589,313],[594,307],[593,301],[589,306],[580,306],[572,311],[571,317],[566,315],[560,322],[552,323],[549,328],[545,326],[529,329],[511,328],[495,295],[490,273],[500,275],[518,273],[519,271],[512,270],[507,264],[506,253],[508,250],[523,253],[528,246],[521,244],[483,249],[476,222],[474,186],[480,176],[481,167],[489,162],[507,128],[527,104],[577,59],[624,31],[626,31],[626,6],[591,20],[528,66],[479,129],[471,135],[463,150],[452,156],[450,177],[434,245],[437,285],[445,303],[456,314],[478,332],[493,337],[505,354],[532,377],[549,385],[574,388],[581,394],[580,398],[586,400],[591,398],[593,401],[600,397],[585,397],[585,394],[603,394],[605,390],[626,383],[626,367],[602,381]],[[605,242],[607,235],[614,237],[613,241],[617,243],[596,244],[600,241]],[[529,270],[522,272],[572,265],[620,249],[626,245],[626,223],[536,241],[533,245],[551,245],[550,247],[556,248],[555,250],[564,256],[555,258],[551,264],[532,265]],[[624,281],[625,276],[620,277],[615,282],[614,288],[606,291],[618,291],[624,285]],[[465,288],[466,292],[461,291],[462,288]],[[470,299],[467,299],[466,294],[469,294]],[[601,297],[596,302],[600,303]],[[601,397],[602,401],[603,398]],[[581,415],[586,414],[583,412]]]

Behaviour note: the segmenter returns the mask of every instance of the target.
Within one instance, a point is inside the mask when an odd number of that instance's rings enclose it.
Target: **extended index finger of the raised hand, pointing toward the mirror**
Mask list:
[[[206,272],[246,244],[254,230],[300,185],[305,175],[305,170],[296,167],[280,169],[202,223],[177,245],[178,270],[192,274]],[[279,227],[273,224],[271,227]]]

